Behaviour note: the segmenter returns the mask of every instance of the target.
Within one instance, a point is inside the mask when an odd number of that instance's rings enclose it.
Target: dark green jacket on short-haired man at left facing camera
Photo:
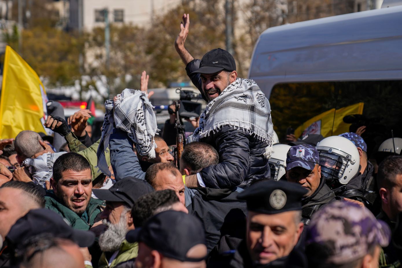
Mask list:
[[[80,217],[77,213],[61,203],[54,195],[53,190],[46,191],[45,196],[45,208],[59,214],[68,221],[73,229],[79,230],[89,230],[94,224],[96,216],[102,212],[101,206],[105,205],[105,201],[91,197],[88,207],[86,208],[86,213]]]

